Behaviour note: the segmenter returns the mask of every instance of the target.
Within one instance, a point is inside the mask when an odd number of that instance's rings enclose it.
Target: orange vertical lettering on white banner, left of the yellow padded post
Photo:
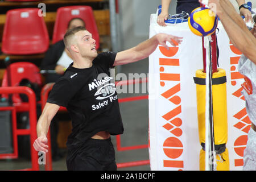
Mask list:
[[[176,46],[178,46],[178,44],[176,44]],[[175,56],[178,49],[179,47],[169,47],[167,50],[166,48],[159,46],[160,52],[167,57]],[[179,59],[159,58],[160,86],[165,87],[166,81],[179,81],[177,85],[172,88],[167,88],[167,90],[161,94],[161,96],[176,105],[175,109],[168,111],[168,113],[162,116],[162,118],[167,121],[167,123],[163,125],[163,128],[174,135],[173,137],[169,137],[164,140],[163,151],[170,160],[163,160],[163,167],[179,168],[179,170],[182,170],[184,168],[183,160],[176,160],[183,154],[183,143],[179,139],[183,133],[180,129],[182,120],[177,117],[177,115],[181,113],[181,98],[176,95],[180,92],[180,74],[164,73],[164,66],[179,67]]]

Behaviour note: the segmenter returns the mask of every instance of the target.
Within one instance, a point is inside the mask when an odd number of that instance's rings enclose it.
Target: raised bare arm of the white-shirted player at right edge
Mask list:
[[[240,20],[237,19],[236,12],[230,12],[227,8],[227,5],[230,6],[229,3],[228,0],[209,0],[208,5],[212,10],[216,8],[216,13],[234,46],[256,64],[256,39],[247,28],[243,28],[244,25],[237,23]]]

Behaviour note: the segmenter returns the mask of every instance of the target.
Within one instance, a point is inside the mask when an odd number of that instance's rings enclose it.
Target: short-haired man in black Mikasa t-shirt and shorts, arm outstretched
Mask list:
[[[110,135],[122,134],[123,123],[109,68],[142,60],[159,44],[168,49],[167,41],[175,46],[173,40],[181,43],[182,38],[157,34],[125,51],[97,53],[96,42],[84,27],[68,30],[64,43],[73,63],[49,94],[37,124],[35,150],[48,152],[49,125],[60,106],[64,106],[72,119],[72,133],[67,141],[68,170],[116,170]],[[99,78],[102,74],[105,76]]]

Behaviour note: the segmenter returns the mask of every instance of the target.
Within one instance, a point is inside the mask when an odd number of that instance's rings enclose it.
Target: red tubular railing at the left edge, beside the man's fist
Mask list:
[[[2,106],[0,110],[11,110],[12,124],[13,124],[13,147],[12,154],[0,154],[0,159],[16,159],[18,158],[18,135],[30,135],[30,150],[31,150],[31,168],[21,170],[39,170],[38,153],[34,150],[33,143],[37,138],[36,135],[36,97],[32,89],[27,86],[6,86],[0,88],[0,94],[26,94],[28,96],[28,103],[14,103],[12,106]],[[23,107],[23,104],[26,107]],[[24,109],[26,108],[26,109]],[[28,111],[30,118],[29,129],[17,129],[16,127],[16,112]]]

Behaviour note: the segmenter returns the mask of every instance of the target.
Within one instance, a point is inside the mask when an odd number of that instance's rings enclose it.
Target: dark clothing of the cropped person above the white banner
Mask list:
[[[177,0],[176,14],[180,14],[182,11],[191,14],[197,7],[200,7],[198,0]]]

